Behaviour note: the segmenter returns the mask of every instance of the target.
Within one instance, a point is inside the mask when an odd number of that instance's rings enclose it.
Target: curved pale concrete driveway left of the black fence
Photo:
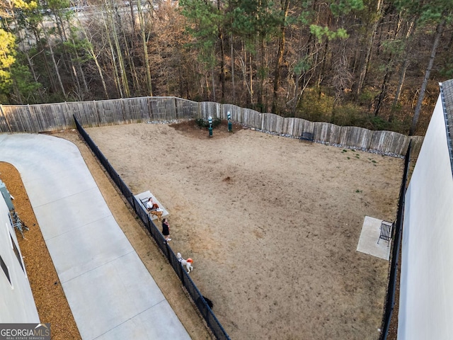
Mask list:
[[[21,174],[83,339],[190,339],[74,144],[1,134],[0,162]]]

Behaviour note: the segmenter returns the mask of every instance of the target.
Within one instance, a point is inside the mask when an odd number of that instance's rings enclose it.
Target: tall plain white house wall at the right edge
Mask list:
[[[398,340],[453,339],[453,175],[441,98],[406,191]]]

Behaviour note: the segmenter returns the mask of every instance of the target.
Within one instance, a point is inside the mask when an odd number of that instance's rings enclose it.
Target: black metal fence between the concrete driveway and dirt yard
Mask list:
[[[207,302],[205,301],[203,295],[200,293],[200,290],[198,290],[195,283],[193,283],[193,280],[190,278],[190,276],[185,271],[183,266],[181,266],[181,263],[178,261],[171,247],[168,246],[167,242],[165,241],[164,235],[161,234],[156,225],[154,225],[154,222],[152,222],[148,213],[142,208],[142,203],[139,202],[139,200],[137,200],[137,198],[134,197],[134,195],[130,191],[130,188],[128,188],[125,182],[122,181],[120,175],[118,175],[115,169],[113,169],[113,166],[110,165],[110,163],[105,158],[101,150],[97,147],[93,140],[91,140],[91,137],[88,135],[88,133],[86,133],[86,131],[80,125],[79,121],[75,116],[74,120],[76,122],[77,130],[79,131],[80,135],[84,138],[86,144],[88,144],[88,146],[96,155],[96,157],[98,157],[99,162],[101,162],[101,164],[104,166],[110,178],[115,182],[116,186],[120,189],[122,195],[126,198],[127,202],[134,209],[134,212],[139,216],[140,220],[142,220],[149,234],[151,234],[151,237],[153,237],[154,241],[156,241],[156,244],[159,246],[161,251],[168,259],[168,262],[170,262],[171,266],[173,267],[173,270],[176,272],[176,275],[178,275],[178,278],[180,278],[185,289],[188,291],[190,297],[192,297],[192,300],[195,302],[195,305],[200,311],[200,314],[202,314],[202,317],[207,322],[207,326],[210,327],[214,336],[220,340],[229,339],[228,334],[226,334],[226,331],[222,327],[222,324],[220,324],[219,320],[214,315],[214,312],[212,312],[209,305],[207,305]]]

